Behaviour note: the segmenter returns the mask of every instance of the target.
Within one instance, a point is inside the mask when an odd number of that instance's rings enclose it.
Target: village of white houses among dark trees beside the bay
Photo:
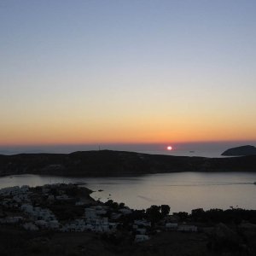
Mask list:
[[[143,216],[124,203],[94,201],[90,192],[78,184],[63,183],[0,189],[0,224],[18,225],[31,231],[114,234],[117,230],[129,230],[135,242],[147,241],[161,230],[197,232],[195,225],[178,224],[177,218],[168,215],[168,206],[164,218],[155,215],[160,208],[155,212],[155,206],[152,208],[151,215],[159,220],[152,223],[152,219],[145,218],[146,214]]]

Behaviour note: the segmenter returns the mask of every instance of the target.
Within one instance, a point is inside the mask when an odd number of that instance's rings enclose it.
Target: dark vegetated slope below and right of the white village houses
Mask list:
[[[108,201],[106,205],[116,210],[124,207],[123,203],[113,201]],[[161,230],[160,233],[152,232],[150,240],[142,243],[134,243],[131,239],[125,219],[121,221],[124,226],[111,235],[88,231],[26,231],[16,226],[1,225],[1,255],[255,255],[256,211],[239,208],[204,211],[200,208],[192,210],[191,214],[177,212],[172,215],[177,222],[199,227],[197,233],[184,233],[161,228],[169,210],[166,205],[151,206],[125,216],[127,224],[134,219],[146,218],[154,222],[152,230]]]

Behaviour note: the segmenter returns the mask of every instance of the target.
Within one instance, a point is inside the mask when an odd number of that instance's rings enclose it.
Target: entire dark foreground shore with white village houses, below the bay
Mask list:
[[[92,192],[79,183],[0,189],[2,251],[6,255],[141,255],[145,251],[169,255],[170,250],[173,255],[181,250],[193,255],[254,255],[256,251],[255,211],[199,208],[191,214],[170,214],[167,205],[136,210],[123,202],[95,201]]]

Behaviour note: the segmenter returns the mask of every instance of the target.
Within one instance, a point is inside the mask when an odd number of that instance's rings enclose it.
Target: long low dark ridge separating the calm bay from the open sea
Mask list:
[[[0,154],[0,175],[47,174],[107,177],[158,172],[256,172],[256,155],[204,158],[125,151],[79,151],[71,154]]]

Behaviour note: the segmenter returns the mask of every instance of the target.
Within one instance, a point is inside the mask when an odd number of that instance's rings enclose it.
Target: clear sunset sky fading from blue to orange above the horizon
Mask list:
[[[0,0],[0,145],[256,140],[256,1]]]

